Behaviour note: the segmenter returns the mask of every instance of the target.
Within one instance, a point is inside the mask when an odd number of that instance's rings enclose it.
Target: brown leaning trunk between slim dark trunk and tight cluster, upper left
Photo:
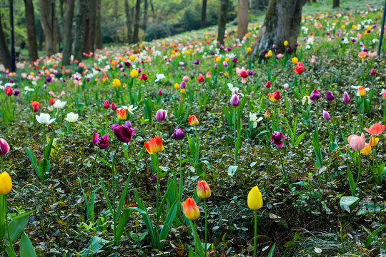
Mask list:
[[[51,56],[58,52],[55,24],[55,8],[52,8],[51,4],[55,6],[55,0],[39,0],[40,22],[41,27],[44,31],[47,56]]]

